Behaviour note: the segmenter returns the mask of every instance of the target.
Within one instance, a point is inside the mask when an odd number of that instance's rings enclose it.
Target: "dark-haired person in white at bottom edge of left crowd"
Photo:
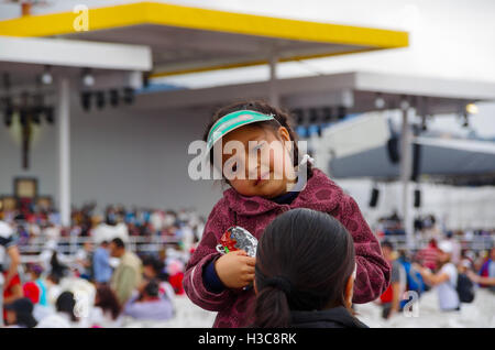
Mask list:
[[[75,314],[76,299],[72,292],[63,292],[56,303],[56,313],[40,320],[37,328],[75,328],[78,327],[79,318]]]

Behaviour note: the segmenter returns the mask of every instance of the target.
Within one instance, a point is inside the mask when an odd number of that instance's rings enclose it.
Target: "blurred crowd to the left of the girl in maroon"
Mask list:
[[[174,299],[184,294],[185,265],[205,220],[193,210],[127,210],[103,215],[88,205],[73,210],[63,228],[53,210],[0,216],[3,324],[8,327],[120,327],[127,320],[173,319]],[[72,254],[64,237],[81,238]],[[135,250],[132,237],[169,238],[158,250]],[[22,254],[34,240],[41,252]],[[161,241],[163,242],[163,241]],[[25,259],[24,259],[25,261]]]

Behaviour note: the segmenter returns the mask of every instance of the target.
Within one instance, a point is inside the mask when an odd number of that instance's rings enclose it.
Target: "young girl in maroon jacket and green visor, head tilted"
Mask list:
[[[221,160],[213,158],[216,152],[210,152],[210,162],[220,164],[220,169],[241,173],[244,169],[245,176],[226,176],[222,171],[231,188],[223,193],[223,198],[211,210],[201,242],[191,255],[184,276],[188,297],[207,310],[218,311],[213,327],[252,324],[248,307],[254,300],[254,291],[250,286],[254,280],[255,259],[243,251],[219,253],[217,244],[224,231],[240,226],[260,239],[273,219],[294,208],[327,212],[352,234],[358,264],[354,303],[377,298],[388,285],[391,267],[356,203],[310,164],[302,167],[307,174],[297,174],[297,165],[302,163],[298,156],[290,164],[294,167],[280,174],[280,163],[284,168],[290,153],[298,154],[297,139],[288,120],[287,113],[265,102],[238,102],[220,109],[206,130],[205,141],[210,147],[215,149],[217,143],[222,146],[230,141],[245,147],[245,154],[222,154]],[[219,130],[222,130],[221,138],[218,138]],[[275,156],[271,152],[268,158],[254,157],[253,153],[257,155],[258,150],[253,152],[250,141],[257,141],[260,146],[279,142],[283,153]],[[235,163],[231,162],[232,156],[238,158]],[[243,160],[246,164],[242,163]],[[240,169],[237,169],[238,165]],[[250,172],[253,168],[254,177]],[[307,175],[306,183],[299,181],[304,175]]]

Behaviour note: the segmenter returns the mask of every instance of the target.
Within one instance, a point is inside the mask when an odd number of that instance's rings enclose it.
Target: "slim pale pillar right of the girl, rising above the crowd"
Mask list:
[[[409,249],[414,245],[414,225],[411,219],[410,192],[409,181],[411,175],[411,131],[408,124],[408,114],[413,108],[403,109],[403,128],[400,138],[400,182],[403,185],[403,219],[404,229],[406,230],[407,247]]]

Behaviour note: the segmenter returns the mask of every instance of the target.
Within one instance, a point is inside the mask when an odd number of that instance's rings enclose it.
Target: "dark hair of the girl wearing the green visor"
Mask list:
[[[272,121],[265,121],[261,123],[253,123],[252,125],[256,125],[260,128],[270,128],[273,131],[277,131],[278,128],[284,127],[287,129],[287,132],[290,136],[290,140],[294,141],[294,166],[297,166],[301,160],[301,154],[299,154],[299,149],[297,146],[297,133],[294,131],[293,128],[293,118],[290,116],[290,112],[283,109],[283,108],[276,108],[271,106],[270,103],[263,101],[263,100],[245,100],[245,101],[239,101],[226,107],[222,107],[218,109],[209,124],[207,125],[205,130],[205,134],[202,136],[202,140],[207,142],[208,134],[210,132],[211,127],[223,116],[227,116],[232,112],[237,112],[240,110],[252,110],[255,112],[261,112],[264,114],[274,114],[275,120]],[[213,164],[213,152],[210,153],[210,164]],[[308,164],[308,178],[312,176],[312,168],[311,164]]]

